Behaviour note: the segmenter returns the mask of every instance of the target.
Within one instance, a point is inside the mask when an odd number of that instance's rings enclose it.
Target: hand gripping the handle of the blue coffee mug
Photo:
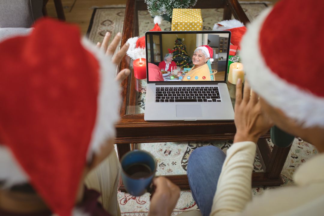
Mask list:
[[[166,177],[153,179],[156,187],[151,197],[149,216],[171,215],[180,197],[180,189]]]

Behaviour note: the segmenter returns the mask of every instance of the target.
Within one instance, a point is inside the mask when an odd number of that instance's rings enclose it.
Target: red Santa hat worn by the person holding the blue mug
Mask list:
[[[0,181],[71,215],[87,160],[114,137],[116,66],[78,27],[44,18],[0,43]]]

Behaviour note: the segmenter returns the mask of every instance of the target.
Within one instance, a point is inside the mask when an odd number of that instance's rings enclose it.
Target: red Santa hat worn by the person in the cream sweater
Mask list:
[[[253,90],[305,127],[324,127],[323,63],[314,57],[324,50],[322,8],[324,1],[280,1],[248,26],[241,43]]]

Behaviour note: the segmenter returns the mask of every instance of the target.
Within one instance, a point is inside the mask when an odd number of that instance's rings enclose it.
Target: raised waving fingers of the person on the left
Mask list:
[[[118,51],[114,56],[113,54],[116,51],[116,48],[119,44],[119,41],[121,40],[121,33],[118,32],[116,34],[116,36],[114,37],[114,39],[111,41],[110,44],[108,44],[109,39],[110,39],[110,32],[107,32],[105,34],[105,37],[102,40],[102,43],[98,42],[97,43],[97,47],[100,48],[101,50],[103,50],[107,56],[109,56],[109,58],[111,58],[112,63],[114,63],[115,65],[118,65],[121,62],[121,59],[125,56],[126,51],[129,48],[129,43],[125,43],[120,51]],[[127,68],[121,70],[117,76],[116,76],[116,81],[121,83],[124,79],[126,79],[126,77],[131,73],[131,71]]]

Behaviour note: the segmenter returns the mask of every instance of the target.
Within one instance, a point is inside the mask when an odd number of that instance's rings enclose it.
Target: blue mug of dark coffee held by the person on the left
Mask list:
[[[152,183],[156,172],[154,156],[142,150],[133,150],[121,158],[121,179],[126,191],[142,196]]]

